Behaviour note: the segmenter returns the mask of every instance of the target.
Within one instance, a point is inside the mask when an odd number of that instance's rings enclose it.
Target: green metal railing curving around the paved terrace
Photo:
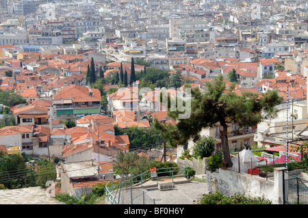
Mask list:
[[[120,192],[120,189],[127,189],[128,187],[131,188],[136,185],[138,185],[138,187],[143,187],[144,182],[149,180],[155,180],[158,185],[159,179],[163,178],[172,178],[172,182],[174,182],[174,178],[180,176],[185,177],[187,180],[189,179],[187,167],[159,168],[156,169],[156,172],[148,170],[132,178],[118,178],[111,180],[106,184],[107,201],[111,204],[118,204],[119,202],[116,199],[116,195]]]

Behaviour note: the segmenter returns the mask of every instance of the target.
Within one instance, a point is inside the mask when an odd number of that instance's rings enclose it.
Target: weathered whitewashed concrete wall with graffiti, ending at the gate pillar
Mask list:
[[[264,197],[272,204],[283,204],[282,174],[285,170],[285,167],[275,168],[273,181],[238,173],[231,169],[218,169],[218,172],[207,171],[207,190],[210,193],[215,193],[217,190],[226,196],[245,193],[250,197]]]

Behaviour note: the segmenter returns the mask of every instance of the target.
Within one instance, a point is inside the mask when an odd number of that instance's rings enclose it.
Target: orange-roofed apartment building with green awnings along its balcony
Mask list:
[[[77,120],[101,111],[101,93],[81,85],[68,85],[58,91],[52,100],[51,115],[55,120]]]

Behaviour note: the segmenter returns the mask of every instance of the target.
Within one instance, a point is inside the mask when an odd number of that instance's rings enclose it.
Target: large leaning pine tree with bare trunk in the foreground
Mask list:
[[[170,146],[187,145],[188,140],[198,140],[200,131],[203,128],[219,124],[221,133],[221,146],[224,163],[226,167],[232,167],[228,144],[227,126],[228,124],[238,124],[239,126],[256,126],[265,115],[272,113],[274,106],[281,103],[281,96],[276,90],[262,94],[244,92],[241,96],[235,94],[235,83],[229,87],[225,93],[226,85],[222,75],[218,76],[214,82],[206,83],[207,92],[202,93],[198,89],[192,89],[191,107],[184,112],[168,110],[168,115],[176,119],[176,126],[159,124],[154,120],[154,126],[170,144]],[[187,103],[186,103],[187,104]],[[179,119],[181,113],[190,110],[188,118]],[[264,113],[261,113],[264,111]]]

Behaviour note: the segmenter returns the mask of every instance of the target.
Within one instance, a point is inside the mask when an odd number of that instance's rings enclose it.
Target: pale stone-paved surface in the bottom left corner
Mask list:
[[[0,204],[64,204],[47,197],[41,187],[0,189]]]

